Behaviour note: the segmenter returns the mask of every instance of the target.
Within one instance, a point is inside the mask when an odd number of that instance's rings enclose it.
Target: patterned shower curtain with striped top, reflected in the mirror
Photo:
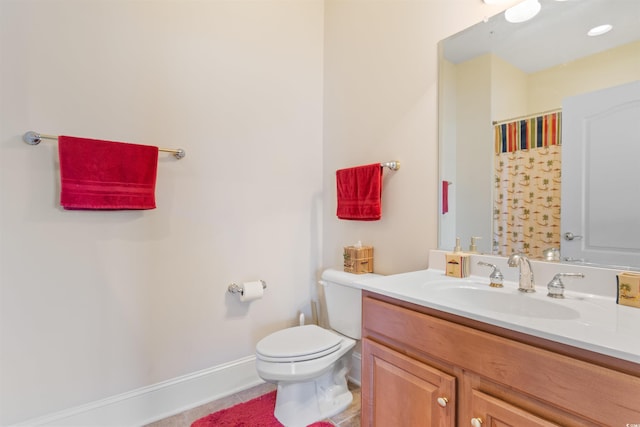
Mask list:
[[[542,258],[560,247],[562,113],[498,124],[494,132],[493,252]]]

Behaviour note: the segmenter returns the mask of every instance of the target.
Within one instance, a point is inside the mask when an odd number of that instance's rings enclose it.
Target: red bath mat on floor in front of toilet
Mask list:
[[[191,427],[283,427],[273,415],[276,406],[276,391],[263,394],[248,402],[209,414],[191,424]],[[310,427],[333,427],[320,421]]]

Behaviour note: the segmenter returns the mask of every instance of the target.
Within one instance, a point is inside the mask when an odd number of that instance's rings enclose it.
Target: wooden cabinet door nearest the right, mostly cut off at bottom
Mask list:
[[[482,427],[558,427],[503,400],[478,390],[471,392],[470,419],[461,425]],[[476,420],[475,423],[473,420]]]

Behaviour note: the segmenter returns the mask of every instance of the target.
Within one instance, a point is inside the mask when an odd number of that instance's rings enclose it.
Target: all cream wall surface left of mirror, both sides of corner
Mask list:
[[[437,42],[476,0],[0,0],[0,424],[253,354],[342,246],[376,271],[437,236]],[[58,207],[56,144],[182,147],[158,209]],[[398,159],[383,219],[335,217],[335,170]],[[322,261],[324,255],[324,261]],[[232,281],[265,279],[241,305]]]

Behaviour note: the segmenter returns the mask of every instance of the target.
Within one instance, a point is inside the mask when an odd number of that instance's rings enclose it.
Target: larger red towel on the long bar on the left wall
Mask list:
[[[158,147],[58,137],[65,209],[154,209]]]

